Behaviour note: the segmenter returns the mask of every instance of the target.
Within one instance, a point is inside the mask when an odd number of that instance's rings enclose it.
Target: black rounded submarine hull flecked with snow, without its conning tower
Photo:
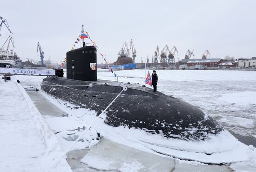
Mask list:
[[[90,87],[89,84],[94,86]],[[87,86],[86,86],[87,85]],[[204,140],[223,129],[198,107],[152,89],[133,84],[105,112],[109,126],[134,127],[166,138]],[[122,86],[107,80],[81,81],[48,77],[41,89],[74,105],[94,110],[99,115],[122,91]]]

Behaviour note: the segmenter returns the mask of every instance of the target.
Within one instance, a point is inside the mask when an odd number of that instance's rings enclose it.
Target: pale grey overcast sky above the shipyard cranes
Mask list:
[[[66,57],[84,25],[109,63],[123,43],[134,41],[135,62],[150,58],[158,45],[176,46],[177,58],[188,49],[202,58],[256,57],[256,0],[4,0],[0,16],[13,32],[15,51],[24,61]],[[0,46],[9,33],[3,26]],[[80,46],[80,45],[79,45]],[[98,63],[103,63],[98,55]]]

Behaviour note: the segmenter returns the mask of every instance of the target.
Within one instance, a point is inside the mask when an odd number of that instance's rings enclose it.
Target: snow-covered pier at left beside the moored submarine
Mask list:
[[[0,171],[71,172],[53,131],[24,88],[11,79],[0,79]]]

